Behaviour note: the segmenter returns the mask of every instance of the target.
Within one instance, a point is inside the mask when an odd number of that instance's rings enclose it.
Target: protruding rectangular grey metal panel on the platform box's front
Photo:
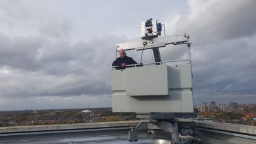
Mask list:
[[[168,95],[168,91],[167,65],[126,69],[127,95]]]

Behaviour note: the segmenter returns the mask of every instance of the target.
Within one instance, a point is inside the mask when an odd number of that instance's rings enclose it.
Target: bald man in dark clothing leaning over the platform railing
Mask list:
[[[137,64],[136,61],[133,60],[133,58],[126,56],[126,52],[124,49],[119,50],[119,56],[113,63],[112,66],[119,66],[121,68],[118,69],[125,69],[126,65],[129,64]]]

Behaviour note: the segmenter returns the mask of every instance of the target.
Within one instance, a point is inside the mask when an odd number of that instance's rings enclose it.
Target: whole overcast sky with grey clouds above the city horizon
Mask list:
[[[190,35],[195,104],[256,103],[255,8],[255,0],[0,0],[0,111],[111,107],[115,45],[139,40],[149,18],[167,35]],[[140,61],[140,52],[127,53]],[[161,54],[188,58],[174,45]]]

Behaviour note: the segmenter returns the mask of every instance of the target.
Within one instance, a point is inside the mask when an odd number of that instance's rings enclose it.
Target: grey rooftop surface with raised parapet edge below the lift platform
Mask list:
[[[140,122],[1,127],[0,143],[129,143],[128,131],[131,126],[137,126]],[[203,143],[216,143],[216,141],[219,143],[256,143],[256,126],[207,121],[194,122],[198,137]],[[138,141],[135,143],[171,143],[171,141],[149,136],[147,131],[139,131]]]

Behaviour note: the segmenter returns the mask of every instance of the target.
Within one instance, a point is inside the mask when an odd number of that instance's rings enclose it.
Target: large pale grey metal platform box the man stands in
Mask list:
[[[113,112],[193,112],[190,64],[145,65],[111,73]]]

